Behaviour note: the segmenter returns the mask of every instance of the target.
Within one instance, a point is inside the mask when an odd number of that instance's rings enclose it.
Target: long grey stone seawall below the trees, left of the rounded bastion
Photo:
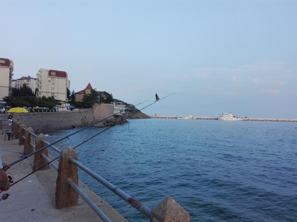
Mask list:
[[[94,123],[93,110],[83,112],[43,112],[15,114],[13,119],[23,122],[32,127],[35,133],[46,133],[51,131],[69,129],[79,126],[88,126]]]

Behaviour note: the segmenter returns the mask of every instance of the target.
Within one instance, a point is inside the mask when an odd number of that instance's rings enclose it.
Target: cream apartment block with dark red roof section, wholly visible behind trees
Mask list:
[[[36,79],[37,97],[54,96],[55,99],[68,101],[67,88],[70,81],[67,72],[41,68],[36,74]]]

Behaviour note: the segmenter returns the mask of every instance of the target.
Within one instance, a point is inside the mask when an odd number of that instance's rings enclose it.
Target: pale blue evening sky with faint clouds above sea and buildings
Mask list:
[[[13,78],[66,71],[146,114],[297,118],[297,1],[0,0]]]

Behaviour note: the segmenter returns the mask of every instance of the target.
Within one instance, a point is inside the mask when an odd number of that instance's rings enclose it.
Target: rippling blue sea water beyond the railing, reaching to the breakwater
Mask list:
[[[297,221],[297,123],[135,119],[76,148],[78,160],[150,209],[171,196],[191,221]],[[81,131],[74,147],[104,128]],[[53,132],[49,141],[77,129]],[[53,153],[57,156],[56,153]],[[83,171],[129,221],[149,221]]]

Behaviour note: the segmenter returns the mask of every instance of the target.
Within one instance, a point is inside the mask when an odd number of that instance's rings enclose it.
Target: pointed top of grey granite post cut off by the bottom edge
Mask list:
[[[165,198],[151,211],[150,222],[190,222],[189,213],[171,197]]]

